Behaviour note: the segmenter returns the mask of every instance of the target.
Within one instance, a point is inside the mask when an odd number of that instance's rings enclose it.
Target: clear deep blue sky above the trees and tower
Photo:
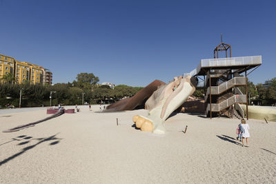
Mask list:
[[[190,72],[220,43],[262,55],[253,83],[276,76],[276,1],[0,0],[0,53],[100,83],[146,86]]]

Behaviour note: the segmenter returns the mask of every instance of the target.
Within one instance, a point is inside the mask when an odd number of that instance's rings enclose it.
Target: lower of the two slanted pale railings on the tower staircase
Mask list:
[[[221,103],[212,103],[211,108],[213,112],[219,112],[228,108],[235,103],[246,103],[246,94],[235,94]],[[207,105],[206,112],[210,111],[210,103]]]

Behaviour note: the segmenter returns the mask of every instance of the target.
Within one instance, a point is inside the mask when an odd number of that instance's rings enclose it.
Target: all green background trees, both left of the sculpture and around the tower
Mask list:
[[[131,87],[128,85],[117,85],[111,89],[108,85],[99,85],[99,77],[92,73],[77,74],[76,81],[72,83],[56,83],[55,85],[32,85],[26,81],[21,84],[15,83],[13,76],[4,76],[0,83],[0,105],[2,108],[6,104],[12,104],[19,107],[19,97],[21,90],[21,107],[35,107],[50,105],[50,96],[52,96],[52,105],[59,103],[63,105],[75,105],[87,102],[96,103],[114,103],[125,97],[135,95],[141,87]],[[239,87],[245,94],[246,89]],[[203,97],[204,90],[196,90],[193,94],[196,97]],[[259,83],[254,85],[248,81],[248,96],[250,103],[255,105],[275,105],[276,103],[276,78],[270,83]]]

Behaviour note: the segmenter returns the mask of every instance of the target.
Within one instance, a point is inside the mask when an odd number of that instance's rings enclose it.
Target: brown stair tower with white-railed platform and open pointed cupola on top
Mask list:
[[[219,52],[225,52],[226,57],[219,58]],[[231,45],[223,43],[221,34],[221,43],[214,50],[214,59],[202,59],[197,74],[204,75],[206,116],[212,119],[224,114],[230,118],[246,116],[248,119],[247,71],[261,64],[261,56],[232,58]],[[240,86],[245,87],[245,94],[239,89]],[[246,112],[242,110],[241,103],[246,104]]]

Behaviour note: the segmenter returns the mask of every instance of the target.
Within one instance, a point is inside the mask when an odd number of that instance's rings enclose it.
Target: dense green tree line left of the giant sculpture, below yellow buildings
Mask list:
[[[55,85],[32,85],[26,81],[21,84],[14,83],[14,79],[5,77],[0,83],[0,105],[5,107],[12,104],[19,107],[19,97],[21,90],[21,107],[36,107],[50,105],[75,105],[83,102],[113,103],[126,96],[133,96],[141,87],[131,87],[128,85],[117,85],[111,89],[108,85],[99,85],[99,77],[92,73],[77,74],[77,80],[72,83],[56,83]]]

